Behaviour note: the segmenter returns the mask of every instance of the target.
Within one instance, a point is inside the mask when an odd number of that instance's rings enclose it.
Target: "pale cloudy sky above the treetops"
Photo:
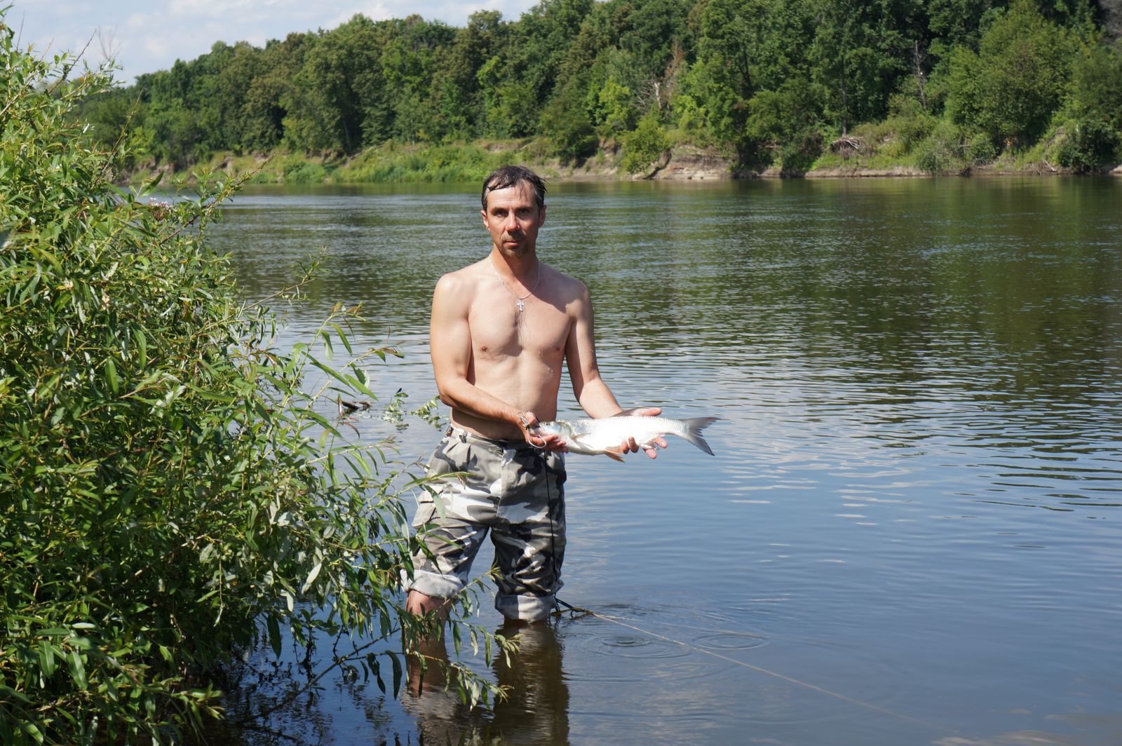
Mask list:
[[[420,13],[465,26],[477,10],[498,10],[515,20],[537,0],[0,0],[11,3],[4,24],[20,46],[70,52],[96,66],[105,55],[121,66],[119,81],[194,59],[215,42],[264,46],[291,31],[330,29],[355,13],[374,20]],[[92,40],[91,40],[92,39]]]

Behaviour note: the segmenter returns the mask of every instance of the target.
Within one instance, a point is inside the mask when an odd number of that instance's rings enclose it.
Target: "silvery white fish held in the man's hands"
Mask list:
[[[662,435],[684,438],[709,455],[714,455],[712,449],[701,436],[701,431],[718,420],[720,417],[672,420],[671,417],[616,415],[615,417],[599,417],[597,420],[540,422],[532,430],[535,434],[559,436],[571,453],[588,455],[603,453],[609,459],[623,461],[619,458],[619,454],[623,453],[619,444],[628,438],[634,438],[640,448],[649,448],[656,438]]]

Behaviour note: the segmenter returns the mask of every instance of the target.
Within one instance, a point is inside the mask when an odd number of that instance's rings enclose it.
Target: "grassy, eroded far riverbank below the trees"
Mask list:
[[[477,182],[500,165],[523,163],[554,182],[580,181],[723,181],[734,178],[875,178],[934,175],[1037,176],[1074,174],[1049,162],[1047,153],[1002,154],[985,163],[945,164],[945,168],[925,169],[913,155],[891,157],[875,150],[826,148],[806,169],[784,168],[782,164],[745,167],[735,154],[690,144],[673,146],[650,168],[629,174],[620,167],[618,147],[599,149],[577,163],[564,163],[544,155],[537,140],[476,141],[451,145],[394,145],[367,148],[356,155],[305,155],[287,151],[272,154],[219,153],[205,162],[181,168],[171,164],[140,164],[127,175],[138,183],[156,172],[181,176],[188,182],[203,173],[251,173],[257,184],[366,184],[366,183],[453,183]],[[1101,173],[1122,176],[1122,165]]]

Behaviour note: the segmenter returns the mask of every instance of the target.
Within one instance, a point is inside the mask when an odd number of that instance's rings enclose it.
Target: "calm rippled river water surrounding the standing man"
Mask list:
[[[249,297],[327,248],[292,341],[361,302],[358,341],[405,356],[379,390],[434,395],[432,287],[488,250],[473,187],[226,217]],[[477,662],[507,702],[329,676],[247,743],[1122,743],[1122,179],[558,184],[539,249],[589,286],[620,403],[719,416],[716,457],[569,457],[560,597],[610,618]]]

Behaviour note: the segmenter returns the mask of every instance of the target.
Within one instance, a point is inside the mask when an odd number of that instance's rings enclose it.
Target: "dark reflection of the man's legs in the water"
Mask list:
[[[507,664],[498,657],[495,679],[508,696],[489,712],[471,710],[456,697],[454,687],[430,666],[424,678],[410,671],[402,704],[417,719],[424,743],[482,739],[503,744],[565,744],[569,742],[569,688],[562,675],[562,646],[552,625],[506,624],[497,630],[517,638],[518,653]],[[447,655],[435,643],[427,655]],[[420,691],[419,691],[420,685]]]

